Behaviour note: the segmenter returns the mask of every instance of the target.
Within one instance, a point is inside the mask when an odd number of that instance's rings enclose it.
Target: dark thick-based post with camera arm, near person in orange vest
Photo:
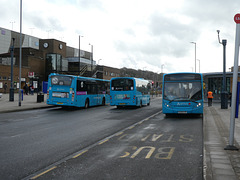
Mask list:
[[[228,108],[228,98],[226,92],[226,45],[227,40],[223,39],[222,42],[220,41],[219,33],[220,30],[217,30],[218,33],[218,42],[223,45],[223,81],[222,81],[222,92],[221,92],[221,109]]]

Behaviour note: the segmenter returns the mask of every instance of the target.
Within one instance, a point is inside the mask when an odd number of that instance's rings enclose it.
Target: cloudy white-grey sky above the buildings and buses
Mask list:
[[[0,1],[0,27],[20,32],[20,0]],[[97,64],[156,73],[234,64],[239,0],[22,0],[22,33],[91,52]]]

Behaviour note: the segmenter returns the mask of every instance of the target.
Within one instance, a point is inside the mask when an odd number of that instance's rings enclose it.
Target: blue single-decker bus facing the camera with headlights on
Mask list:
[[[203,114],[203,78],[200,73],[163,76],[163,114]]]

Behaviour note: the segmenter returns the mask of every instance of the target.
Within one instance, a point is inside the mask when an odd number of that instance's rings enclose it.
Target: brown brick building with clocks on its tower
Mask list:
[[[56,39],[40,39],[22,34],[21,85],[34,85],[41,90],[50,73],[92,76],[96,71],[93,54],[79,51]],[[0,92],[11,87],[11,48],[13,51],[13,86],[19,88],[20,33],[0,28]]]

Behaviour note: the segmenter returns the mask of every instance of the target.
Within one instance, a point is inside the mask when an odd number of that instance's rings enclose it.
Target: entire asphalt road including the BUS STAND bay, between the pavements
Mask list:
[[[0,119],[2,179],[202,179],[202,118],[166,119],[159,99]]]

